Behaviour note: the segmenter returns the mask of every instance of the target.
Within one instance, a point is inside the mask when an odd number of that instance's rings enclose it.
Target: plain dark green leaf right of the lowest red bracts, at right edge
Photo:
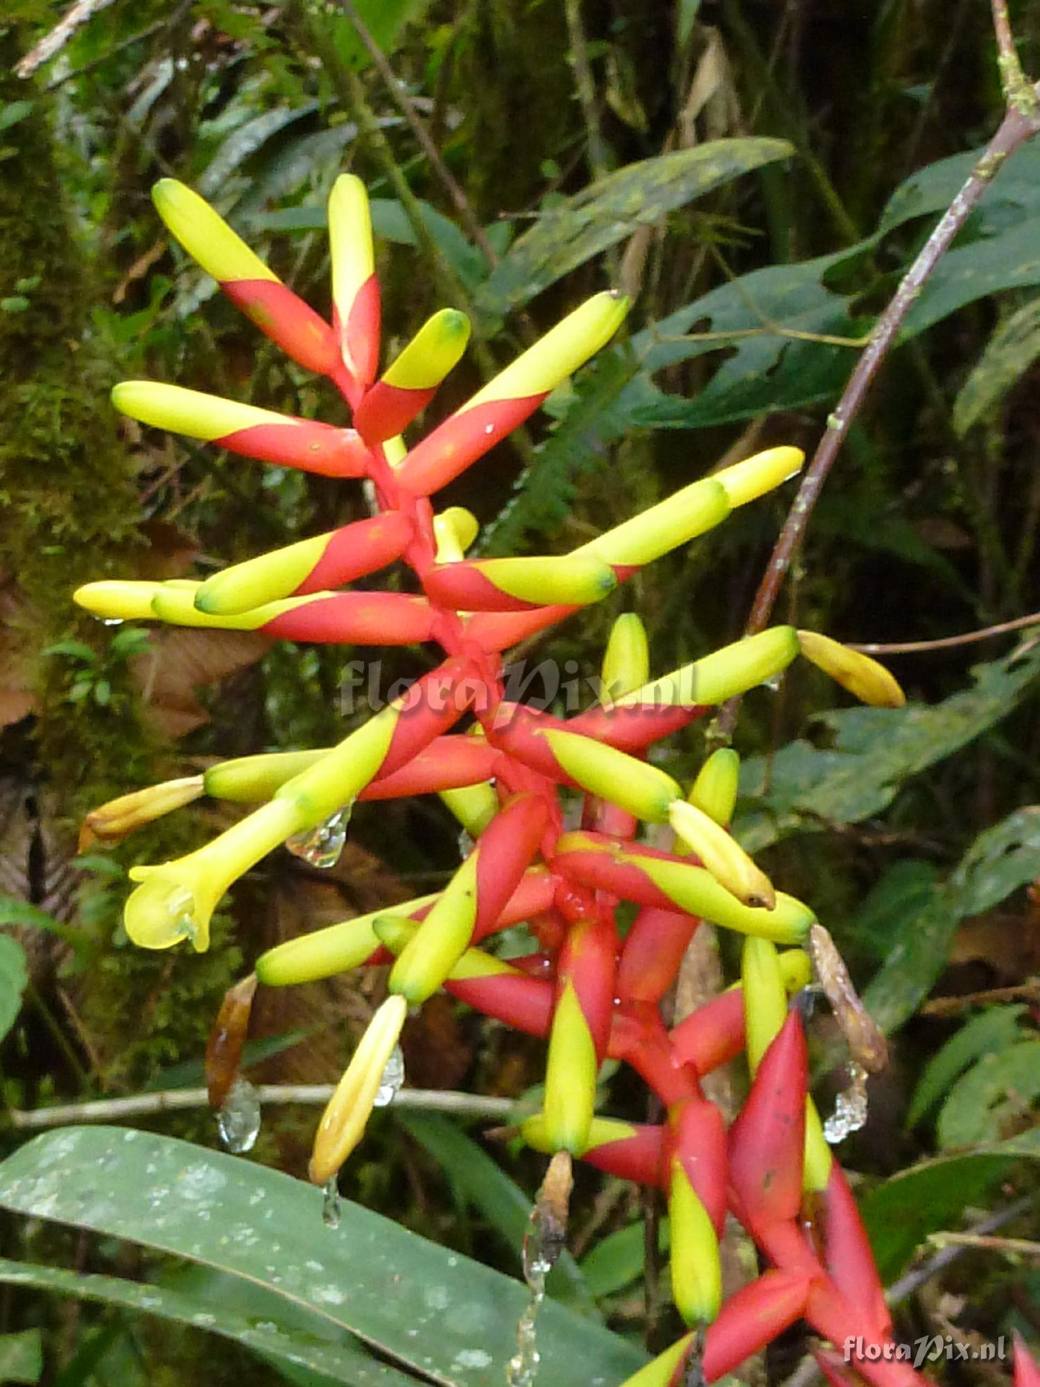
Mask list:
[[[882,1280],[894,1280],[929,1233],[955,1227],[964,1209],[1023,1157],[1040,1160],[1040,1128],[965,1155],[911,1165],[871,1190],[860,1212]]]

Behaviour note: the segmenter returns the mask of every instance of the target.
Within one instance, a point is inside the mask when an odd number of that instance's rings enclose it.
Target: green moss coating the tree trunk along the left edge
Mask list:
[[[19,47],[17,25],[0,28],[0,108],[33,94],[11,75]],[[72,603],[78,584],[133,573],[146,541],[136,463],[108,401],[121,372],[92,325],[90,307],[103,301],[101,288],[64,196],[46,97],[36,96],[33,110],[4,132],[3,143],[3,578],[15,594],[12,634],[36,694],[35,764],[25,767],[25,775],[57,788],[58,827],[71,852],[86,809],[177,768],[176,756],[141,714],[130,662],[114,652],[112,632]],[[94,663],[46,653],[69,639],[93,651]],[[85,669],[108,685],[104,700],[71,696]],[[197,841],[190,816],[175,816],[119,856],[130,860],[147,852],[162,860]],[[123,1080],[201,1054],[239,961],[234,949],[216,950],[201,967],[194,957],[111,950],[125,893],[125,881],[107,879],[104,890],[83,902],[78,924],[94,936],[101,954],[85,986],[76,988],[87,1032],[105,1067],[115,1065],[108,1078],[118,1069]]]

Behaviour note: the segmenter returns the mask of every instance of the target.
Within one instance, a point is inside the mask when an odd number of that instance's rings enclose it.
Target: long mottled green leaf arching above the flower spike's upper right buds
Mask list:
[[[627,164],[542,212],[480,287],[477,307],[495,323],[641,226],[792,153],[783,140],[713,140]]]

